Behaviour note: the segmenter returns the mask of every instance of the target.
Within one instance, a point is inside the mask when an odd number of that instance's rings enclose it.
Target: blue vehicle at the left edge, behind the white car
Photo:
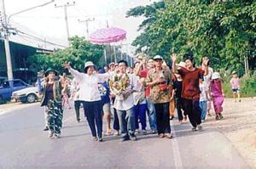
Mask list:
[[[31,85],[21,81],[20,79],[4,81],[3,85],[0,87],[0,104],[9,101],[11,99],[13,92],[26,87],[31,87]]]

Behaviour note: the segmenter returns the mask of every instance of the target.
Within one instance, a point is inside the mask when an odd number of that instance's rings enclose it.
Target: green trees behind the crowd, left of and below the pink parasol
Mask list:
[[[67,61],[71,62],[73,68],[83,70],[84,62],[92,61],[96,65],[99,63],[103,54],[103,47],[91,44],[84,37],[72,37],[70,39],[71,47],[59,49],[54,54],[35,54],[28,60],[31,65],[30,69],[37,72],[38,70],[47,70],[52,68],[62,71],[62,65]]]

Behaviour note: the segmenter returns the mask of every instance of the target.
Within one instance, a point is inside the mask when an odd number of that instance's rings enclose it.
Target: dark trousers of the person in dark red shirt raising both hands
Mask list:
[[[183,109],[189,115],[189,121],[193,127],[201,124],[199,99],[183,99]]]

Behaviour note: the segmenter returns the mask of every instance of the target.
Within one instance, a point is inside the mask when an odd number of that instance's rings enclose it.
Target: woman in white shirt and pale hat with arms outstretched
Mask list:
[[[91,61],[85,62],[84,73],[73,70],[69,63],[64,64],[64,67],[79,82],[79,100],[84,105],[84,115],[89,123],[93,139],[102,142],[102,100],[98,83],[108,81],[111,73],[97,74],[96,66]]]

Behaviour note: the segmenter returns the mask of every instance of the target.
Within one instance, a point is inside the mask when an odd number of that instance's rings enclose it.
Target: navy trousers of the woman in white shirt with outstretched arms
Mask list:
[[[84,116],[87,118],[92,136],[102,138],[102,101],[83,101],[83,105]]]

